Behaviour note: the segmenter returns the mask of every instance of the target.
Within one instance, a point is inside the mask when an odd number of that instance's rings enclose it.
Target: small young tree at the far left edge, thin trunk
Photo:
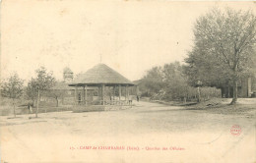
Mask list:
[[[12,75],[7,81],[1,84],[2,95],[13,100],[14,117],[16,117],[15,99],[23,95],[23,83],[17,74]]]

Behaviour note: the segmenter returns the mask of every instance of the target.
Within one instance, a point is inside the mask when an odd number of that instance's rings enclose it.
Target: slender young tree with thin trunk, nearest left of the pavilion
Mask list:
[[[34,79],[33,89],[35,88],[37,90],[37,102],[35,111],[35,117],[37,118],[40,101],[40,91],[50,89],[53,86],[55,79],[52,76],[52,72],[48,73],[44,67],[39,68],[35,72],[37,74],[37,77]]]

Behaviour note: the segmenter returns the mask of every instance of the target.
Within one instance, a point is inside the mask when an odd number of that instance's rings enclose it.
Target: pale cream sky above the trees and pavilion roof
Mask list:
[[[44,66],[61,81],[100,63],[131,81],[179,61],[193,46],[196,20],[213,7],[256,11],[253,2],[164,0],[3,0],[1,79],[29,81]],[[101,57],[100,57],[101,56]]]

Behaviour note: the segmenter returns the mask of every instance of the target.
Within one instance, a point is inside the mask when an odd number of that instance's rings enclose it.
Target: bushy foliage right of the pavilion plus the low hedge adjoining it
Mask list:
[[[184,75],[184,66],[179,62],[165,64],[148,71],[142,79],[140,89],[143,96],[154,100],[195,100],[198,98],[197,88],[188,84]],[[220,97],[220,91],[215,87],[200,88],[203,98]]]

